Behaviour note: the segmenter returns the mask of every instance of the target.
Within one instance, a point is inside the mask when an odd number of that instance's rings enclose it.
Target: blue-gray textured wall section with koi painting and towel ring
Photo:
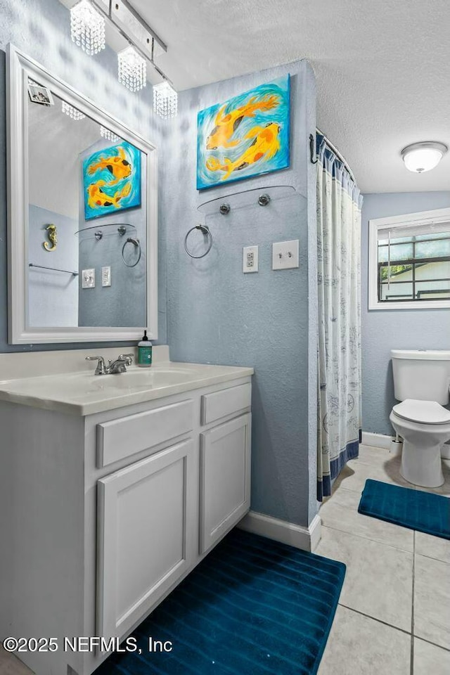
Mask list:
[[[287,72],[292,75],[290,169],[195,191],[198,110]],[[300,525],[316,513],[316,283],[309,289],[308,274],[308,247],[311,259],[316,257],[316,179],[307,148],[307,135],[315,127],[314,102],[314,76],[305,61],[181,92],[178,123],[165,139],[164,169],[165,184],[178,189],[176,198],[173,191],[163,195],[162,209],[172,359],[255,367],[252,509]],[[314,203],[308,208],[301,195],[307,195],[311,181]],[[252,206],[207,217],[214,237],[210,254],[200,260],[186,255],[184,236],[203,221],[200,203],[276,184],[295,186],[297,196],[265,208],[255,205],[254,196]],[[233,198],[229,202],[233,208]],[[272,271],[271,244],[294,238],[300,239],[300,268]],[[189,243],[197,245],[194,236]],[[259,245],[257,274],[243,274],[245,245]]]

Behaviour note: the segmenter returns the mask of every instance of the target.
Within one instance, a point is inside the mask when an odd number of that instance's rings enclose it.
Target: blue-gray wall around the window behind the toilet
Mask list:
[[[368,311],[368,221],[450,207],[450,192],[364,195],[362,210],[362,378],[363,430],[392,435],[390,411],[396,403],[391,349],[450,349],[449,309]]]

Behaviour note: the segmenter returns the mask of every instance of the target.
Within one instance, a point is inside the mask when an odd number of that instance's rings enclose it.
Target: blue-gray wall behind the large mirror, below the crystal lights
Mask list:
[[[65,82],[109,110],[131,129],[138,131],[159,148],[162,123],[153,117],[152,89],[132,94],[117,82],[117,54],[105,49],[97,56],[86,56],[70,39],[70,14],[58,0],[0,0],[0,352],[28,349],[80,349],[101,347],[105,343],[73,345],[8,345],[7,338],[7,263],[6,263],[6,44],[35,58]],[[159,187],[160,192],[160,187]],[[158,237],[158,305],[160,344],[166,333],[166,256],[165,237]],[[127,345],[108,342],[108,346]]]

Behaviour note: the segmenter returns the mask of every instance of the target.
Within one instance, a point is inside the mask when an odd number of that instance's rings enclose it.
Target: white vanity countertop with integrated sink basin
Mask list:
[[[253,368],[163,361],[150,368],[130,366],[127,373],[119,375],[94,375],[91,369],[1,380],[0,400],[84,416],[252,374]]]

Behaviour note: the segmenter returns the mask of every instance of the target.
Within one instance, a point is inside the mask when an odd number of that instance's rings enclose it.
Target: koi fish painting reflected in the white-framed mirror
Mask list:
[[[83,160],[86,220],[141,205],[141,150],[123,141]]]

